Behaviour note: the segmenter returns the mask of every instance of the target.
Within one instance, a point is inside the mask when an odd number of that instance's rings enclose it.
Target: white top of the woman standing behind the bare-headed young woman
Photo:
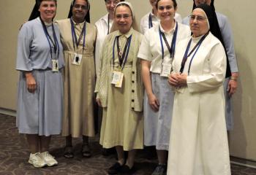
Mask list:
[[[145,16],[143,16],[143,18],[141,18],[140,20],[140,31],[142,34],[145,34],[146,31],[149,29],[149,26],[148,26],[148,18],[149,18],[149,15],[151,15],[152,17],[152,24],[153,24],[153,27],[154,26],[158,26],[160,20],[159,18],[157,18],[156,15],[154,15],[152,12],[148,12]],[[181,18],[181,15],[179,15],[178,13],[175,14],[174,16],[174,19],[178,22],[178,23],[181,23],[182,22],[182,18]]]

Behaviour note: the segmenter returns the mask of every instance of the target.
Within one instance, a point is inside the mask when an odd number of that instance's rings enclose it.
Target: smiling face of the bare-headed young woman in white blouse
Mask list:
[[[173,21],[176,8],[172,0],[161,0],[157,3],[157,15],[161,22]]]

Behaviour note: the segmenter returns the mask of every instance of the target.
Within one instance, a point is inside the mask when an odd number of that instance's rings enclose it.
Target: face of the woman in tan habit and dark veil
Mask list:
[[[82,23],[85,20],[88,12],[88,4],[86,0],[75,0],[72,7],[72,18],[77,23]]]

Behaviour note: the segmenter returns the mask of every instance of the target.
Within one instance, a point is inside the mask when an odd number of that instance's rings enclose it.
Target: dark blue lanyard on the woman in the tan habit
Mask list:
[[[73,42],[74,50],[75,50],[75,46],[78,48],[78,45],[82,39],[82,36],[83,36],[83,50],[84,50],[84,48],[86,46],[86,21],[83,24],[83,29],[80,33],[79,39],[77,38],[77,35],[75,34],[75,25],[71,18],[70,18],[70,23],[71,23],[72,42]]]

